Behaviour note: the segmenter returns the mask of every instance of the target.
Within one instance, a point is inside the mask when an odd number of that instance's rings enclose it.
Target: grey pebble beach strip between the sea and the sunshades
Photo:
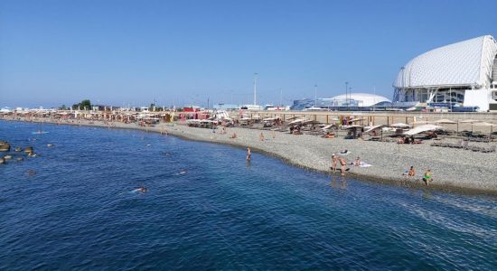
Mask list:
[[[137,126],[136,124],[124,124],[119,122],[111,123],[112,126],[108,126],[100,121],[87,121],[83,120],[78,123],[68,123],[68,122],[57,122],[49,119],[31,119],[31,120],[15,120],[15,119],[5,119],[0,118],[4,121],[16,121],[16,122],[27,122],[27,123],[42,123],[50,125],[71,125],[71,126],[95,126],[103,128],[119,128],[119,129],[133,129],[145,132],[153,132],[158,134],[167,133],[167,135],[173,135],[178,138],[192,141],[200,141],[205,143],[230,145],[232,147],[245,149],[250,146],[253,152],[259,154],[265,154],[279,160],[291,166],[296,166],[303,168],[305,170],[324,173],[327,175],[339,176],[341,177],[339,171],[337,173],[332,173],[330,170],[331,166],[331,155],[333,153],[338,154],[339,147],[342,149],[348,149],[352,151],[352,154],[343,156],[346,159],[353,160],[356,155],[361,156],[362,161],[367,161],[367,163],[373,164],[369,168],[361,168],[356,166],[349,166],[350,171],[345,174],[345,177],[351,176],[361,182],[374,182],[384,185],[401,186],[407,187],[409,189],[416,190],[429,190],[434,192],[453,192],[461,194],[470,195],[497,195],[497,180],[492,178],[497,177],[497,169],[495,169],[495,164],[497,164],[497,154],[479,154],[481,158],[487,161],[487,164],[480,165],[476,168],[481,176],[476,176],[477,173],[467,172],[471,169],[472,161],[474,161],[476,153],[465,151],[465,150],[446,150],[443,161],[433,159],[432,156],[422,157],[421,160],[426,160],[426,164],[431,164],[429,167],[434,170],[434,181],[430,183],[429,186],[425,185],[423,181],[420,181],[418,176],[420,176],[425,170],[421,166],[416,166],[417,168],[417,178],[408,179],[401,174],[405,169],[408,168],[410,164],[416,164],[415,161],[419,160],[417,157],[418,153],[424,154],[425,149],[431,148],[434,151],[445,151],[445,148],[430,147],[427,144],[424,145],[408,145],[402,146],[402,152],[400,152],[400,146],[391,143],[378,143],[378,142],[368,142],[362,140],[345,140],[342,138],[325,139],[315,135],[290,135],[282,132],[275,132],[275,138],[272,138],[270,131],[262,131],[257,129],[248,129],[240,127],[228,127],[227,133],[220,135],[220,130],[216,130],[216,134],[212,133],[211,129],[189,127],[183,124],[176,123],[161,123],[157,126]],[[239,135],[238,138],[231,139],[230,135],[235,132]],[[265,141],[259,140],[259,134],[265,134]],[[283,140],[282,140],[283,139]],[[372,145],[373,147],[370,147]],[[409,150],[404,150],[404,148],[412,148],[412,153]],[[421,148],[421,152],[419,149]],[[361,152],[361,149],[366,149]],[[367,154],[369,149],[378,150],[377,154]],[[398,155],[393,153],[388,153],[385,151],[390,151],[392,149],[399,149]],[[417,151],[417,152],[414,152]],[[450,152],[449,152],[450,151]],[[458,151],[460,155],[451,155],[451,152]],[[458,156],[464,156],[466,160],[455,160]],[[396,157],[397,156],[397,157]],[[364,159],[363,157],[366,157]],[[374,159],[376,157],[377,159]],[[387,158],[385,160],[385,158]],[[392,159],[393,158],[393,159]],[[478,158],[478,157],[476,157]],[[407,160],[402,163],[402,159]],[[450,160],[454,161],[450,161]],[[409,161],[410,160],[410,161]],[[464,164],[464,161],[467,164]],[[351,161],[348,161],[351,162]],[[410,164],[409,164],[410,162]],[[447,164],[455,163],[455,166],[451,169],[444,169]],[[458,167],[457,165],[462,165]],[[492,167],[493,164],[493,167]],[[464,165],[468,167],[464,168]],[[398,169],[402,168],[401,171]],[[337,166],[339,169],[340,166]],[[442,173],[442,174],[440,174]],[[397,176],[396,176],[397,175]],[[461,178],[457,182],[453,181],[451,176],[459,175]],[[446,176],[446,178],[444,178]],[[478,179],[472,180],[468,176],[474,176]],[[495,176],[495,177],[494,177]]]

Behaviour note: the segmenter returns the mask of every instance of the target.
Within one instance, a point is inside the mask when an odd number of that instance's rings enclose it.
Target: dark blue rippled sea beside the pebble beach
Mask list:
[[[0,165],[1,270],[497,268],[496,198],[139,131],[0,121],[0,139],[39,154]]]

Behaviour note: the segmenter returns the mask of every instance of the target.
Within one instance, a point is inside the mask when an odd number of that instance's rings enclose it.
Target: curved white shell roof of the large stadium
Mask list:
[[[399,70],[393,86],[416,89],[451,86],[489,87],[497,42],[486,35],[427,51]]]

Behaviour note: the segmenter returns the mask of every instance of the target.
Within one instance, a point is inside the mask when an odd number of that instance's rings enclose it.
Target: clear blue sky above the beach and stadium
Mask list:
[[[497,1],[0,0],[0,107],[392,97],[399,67],[491,34]]]

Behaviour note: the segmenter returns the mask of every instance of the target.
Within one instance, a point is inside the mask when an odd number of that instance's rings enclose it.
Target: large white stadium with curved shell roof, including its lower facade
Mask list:
[[[497,110],[497,42],[486,35],[427,51],[399,70],[393,87],[394,102]]]

